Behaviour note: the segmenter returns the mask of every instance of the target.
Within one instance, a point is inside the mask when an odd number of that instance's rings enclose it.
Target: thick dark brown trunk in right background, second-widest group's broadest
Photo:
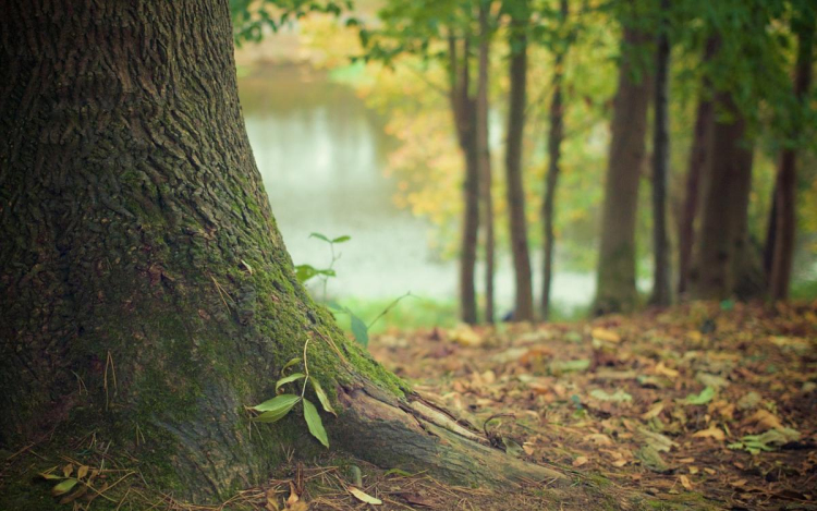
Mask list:
[[[716,108],[724,119],[710,127],[704,170],[704,202],[695,267],[690,285],[696,299],[723,300],[736,291],[747,270],[748,197],[752,184],[752,148],[746,120],[728,93],[718,93]]]

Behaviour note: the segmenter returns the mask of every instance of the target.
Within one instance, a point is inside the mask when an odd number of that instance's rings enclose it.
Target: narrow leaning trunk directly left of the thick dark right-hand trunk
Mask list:
[[[715,40],[707,42],[704,52],[704,62],[711,59],[715,49]],[[679,228],[679,268],[678,268],[678,294],[687,292],[690,281],[690,269],[692,267],[692,255],[695,246],[695,218],[700,208],[700,178],[706,166],[709,151],[709,129],[712,125],[715,110],[709,97],[709,81],[704,78],[698,97],[698,109],[695,117],[695,133],[690,150],[690,162],[686,170],[686,196]]]

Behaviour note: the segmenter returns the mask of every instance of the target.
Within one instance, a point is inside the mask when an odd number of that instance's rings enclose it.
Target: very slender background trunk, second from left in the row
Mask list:
[[[488,71],[490,66],[490,0],[479,2],[479,70],[477,73],[476,97],[476,145],[479,166],[479,181],[483,198],[483,228],[485,230],[485,323],[492,324],[493,311],[493,268],[495,268],[495,235],[493,235],[493,183],[491,172],[491,154],[489,146],[488,120]]]

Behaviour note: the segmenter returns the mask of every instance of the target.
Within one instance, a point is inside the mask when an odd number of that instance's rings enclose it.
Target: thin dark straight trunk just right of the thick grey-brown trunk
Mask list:
[[[667,239],[667,179],[670,166],[669,85],[670,39],[667,21],[669,0],[661,0],[661,22],[656,48],[655,127],[653,130],[653,254],[655,275],[650,303],[666,306],[672,300],[670,247]]]

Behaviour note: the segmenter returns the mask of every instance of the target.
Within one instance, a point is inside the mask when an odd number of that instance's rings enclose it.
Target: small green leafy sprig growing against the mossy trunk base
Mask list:
[[[286,416],[286,414],[292,411],[293,407],[295,407],[296,404],[301,403],[304,411],[304,419],[306,421],[306,427],[309,429],[309,433],[312,436],[318,439],[320,443],[324,445],[324,447],[329,447],[329,438],[327,437],[326,429],[324,428],[324,423],[320,419],[320,414],[318,414],[318,409],[306,399],[306,386],[307,384],[312,384],[313,390],[315,391],[315,394],[318,397],[318,401],[320,401],[320,405],[324,407],[325,411],[331,413],[332,415],[338,415],[334,412],[334,409],[332,409],[332,404],[329,401],[329,397],[327,396],[324,388],[320,386],[320,382],[316,380],[315,378],[309,377],[309,364],[306,360],[306,350],[309,346],[309,339],[306,340],[304,343],[304,356],[303,358],[295,357],[292,358],[290,362],[284,364],[284,366],[281,368],[281,378],[276,381],[276,397],[267,400],[260,404],[256,404],[255,406],[251,406],[251,410],[254,410],[256,412],[259,412],[259,415],[253,417],[253,421],[258,423],[277,423],[278,421],[282,419]],[[286,374],[288,370],[291,368],[297,366],[298,364],[303,363],[304,372],[303,373],[292,373]],[[303,385],[301,388],[301,394],[297,393],[278,393],[282,387],[286,385],[293,385],[300,380],[303,380]]]

